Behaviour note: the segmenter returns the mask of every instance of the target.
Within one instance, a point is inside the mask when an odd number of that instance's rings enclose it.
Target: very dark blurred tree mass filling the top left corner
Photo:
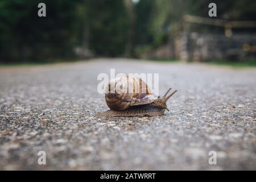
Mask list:
[[[38,3],[46,3],[46,17]],[[77,1],[0,1],[0,59],[46,61],[72,56]]]

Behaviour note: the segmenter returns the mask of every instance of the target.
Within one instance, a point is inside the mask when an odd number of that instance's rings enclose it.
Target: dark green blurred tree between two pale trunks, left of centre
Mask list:
[[[89,48],[99,56],[120,56],[125,53],[129,34],[129,16],[123,1],[90,2]]]

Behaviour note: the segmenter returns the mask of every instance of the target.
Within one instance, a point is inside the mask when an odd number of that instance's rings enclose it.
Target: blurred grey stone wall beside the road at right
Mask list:
[[[146,56],[185,61],[255,59],[256,34],[234,34],[226,37],[222,34],[183,32],[171,39],[167,46],[147,53]]]

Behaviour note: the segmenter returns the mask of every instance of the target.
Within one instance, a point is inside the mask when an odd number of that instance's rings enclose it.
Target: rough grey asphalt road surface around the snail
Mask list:
[[[160,95],[178,90],[170,111],[95,118],[108,109],[97,76],[110,68],[159,73]],[[255,68],[127,59],[0,67],[0,169],[256,169],[255,78]]]

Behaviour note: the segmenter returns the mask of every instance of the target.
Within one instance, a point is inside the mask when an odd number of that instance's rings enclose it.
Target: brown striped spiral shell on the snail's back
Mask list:
[[[105,100],[110,109],[121,111],[134,105],[154,102],[147,84],[138,77],[123,76],[110,80],[105,88]]]

